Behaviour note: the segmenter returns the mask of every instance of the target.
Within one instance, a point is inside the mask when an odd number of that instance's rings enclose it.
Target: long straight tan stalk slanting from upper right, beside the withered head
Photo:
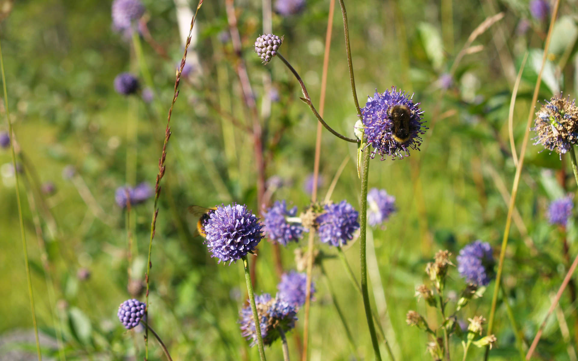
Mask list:
[[[529,139],[529,132],[530,132],[530,125],[532,124],[533,119],[533,109],[536,106],[536,102],[538,101],[538,93],[540,91],[540,84],[542,83],[542,72],[544,70],[544,64],[546,64],[546,57],[548,55],[548,49],[550,47],[550,39],[552,36],[552,30],[554,28],[554,20],[558,15],[558,7],[560,6],[560,0],[556,0],[554,4],[554,9],[552,12],[552,20],[550,21],[550,28],[548,29],[548,35],[546,37],[546,44],[544,45],[544,55],[542,57],[542,65],[540,65],[540,72],[538,73],[538,80],[536,80],[536,86],[534,88],[534,93],[532,96],[532,103],[528,112],[528,121],[526,124],[526,131],[524,133],[524,140],[522,142],[522,148],[520,150],[520,159],[518,161],[518,166],[516,167],[516,175],[514,176],[514,183],[512,185],[512,195],[510,196],[510,204],[507,211],[506,217],[506,226],[504,229],[504,235],[502,239],[502,247],[500,250],[500,258],[498,263],[498,272],[496,274],[496,284],[494,286],[494,295],[492,295],[492,307],[490,310],[490,318],[488,321],[488,332],[487,334],[492,334],[493,327],[494,327],[494,317],[496,314],[496,306],[498,303],[498,292],[500,289],[500,282],[502,278],[502,271],[503,271],[503,263],[506,256],[506,246],[508,241],[508,236],[510,233],[510,226],[512,225],[512,214],[514,210],[514,205],[516,204],[516,195],[518,193],[518,184],[520,184],[520,176],[522,173],[522,167],[524,166],[524,158],[526,155],[526,148],[528,146],[528,139]],[[575,173],[577,174],[577,173]],[[484,356],[484,360],[488,359],[488,355],[490,353],[490,347],[486,347],[486,355]]]

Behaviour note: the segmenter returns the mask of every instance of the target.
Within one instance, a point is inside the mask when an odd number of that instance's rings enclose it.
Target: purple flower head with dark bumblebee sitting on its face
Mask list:
[[[420,103],[413,102],[413,95],[397,91],[395,87],[383,93],[375,92],[361,110],[365,139],[373,147],[371,157],[376,154],[383,161],[409,156],[409,150],[419,150],[421,135],[426,128],[422,121]]]

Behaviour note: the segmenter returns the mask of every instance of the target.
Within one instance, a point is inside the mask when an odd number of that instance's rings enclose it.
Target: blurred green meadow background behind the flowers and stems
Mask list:
[[[128,233],[134,236],[132,277],[144,279],[153,200],[132,207],[129,219],[114,195],[117,187],[125,184],[145,181],[154,185],[175,66],[183,53],[175,3],[143,3],[156,49],[143,36],[139,40],[142,58],[130,38],[112,29],[109,1],[18,1],[0,24],[10,120],[17,157],[24,166],[20,194],[36,315],[43,334],[52,340],[62,338],[66,359],[142,359],[142,334],[125,332],[116,311],[118,304],[132,297],[127,289]],[[196,5],[191,2],[190,8]],[[374,308],[397,359],[428,359],[427,336],[417,327],[407,326],[405,315],[407,310],[417,310],[435,324],[436,314],[423,301],[416,302],[414,288],[425,281],[425,265],[440,249],[455,255],[465,244],[481,239],[498,254],[507,213],[505,197],[509,197],[504,192],[511,191],[515,172],[507,127],[510,96],[528,52],[513,117],[519,155],[548,21],[532,18],[528,3],[517,0],[368,0],[346,1],[346,6],[362,105],[376,89],[383,92],[397,86],[415,93],[413,99],[421,102],[430,128],[421,151],[412,151],[402,160],[374,159],[369,176],[369,187],[395,195],[398,209],[387,226],[372,233],[375,256],[369,255],[370,276],[377,280],[372,284],[377,295],[372,302],[376,302]],[[540,101],[560,91],[571,98],[576,94],[576,6],[576,1],[561,3]],[[301,211],[310,202],[302,184],[313,172],[316,120],[299,101],[298,83],[281,61],[273,59],[263,66],[253,53],[253,42],[262,32],[261,1],[236,1],[235,8],[242,55],[264,127],[265,176],[283,180],[279,189],[270,188],[269,195],[271,201],[287,199]],[[273,14],[272,18],[273,32],[284,35],[280,50],[303,77],[316,106],[328,8],[328,1],[306,0],[301,13],[290,17]],[[498,12],[503,12],[503,18],[477,36],[453,68],[472,31]],[[522,21],[529,25],[525,32],[518,28]],[[227,115],[242,124],[251,123],[236,74],[238,59],[231,41],[222,41],[223,32],[229,31],[224,2],[205,1],[195,28],[197,40],[189,58],[197,57],[199,62],[197,71],[181,80],[161,182],[150,322],[175,360],[256,360],[257,349],[249,348],[239,332],[238,311],[246,297],[242,265],[218,265],[210,258],[202,239],[192,236],[195,219],[187,214],[190,204],[210,207],[232,201],[246,203],[255,212],[261,210],[253,139]],[[154,85],[152,103],[138,95],[119,95],[113,88],[114,77],[126,71],[146,83],[143,64]],[[439,79],[449,72],[453,72],[453,82],[444,88]],[[356,111],[339,6],[328,75],[324,118],[340,133],[353,136]],[[265,111],[262,109],[271,86],[280,99],[271,103],[268,114],[266,105]],[[0,130],[6,131],[5,117],[1,124]],[[516,202],[519,218],[514,219],[510,232],[503,278],[507,300],[527,343],[567,270],[562,248],[565,234],[547,224],[544,212],[550,200],[575,190],[569,161],[540,150],[528,146]],[[354,144],[323,132],[321,197],[339,166],[349,159],[331,199],[346,199],[358,207],[356,151]],[[10,161],[10,152],[2,150],[0,164]],[[72,178],[62,177],[68,165],[76,169]],[[1,166],[1,173],[0,203],[5,206],[0,208],[0,340],[16,330],[32,329],[14,177],[10,166]],[[41,191],[47,182],[55,185],[54,193]],[[570,221],[570,259],[578,251],[575,235]],[[45,244],[46,258],[39,240]],[[280,248],[285,270],[295,268],[294,250],[299,247],[305,248],[306,240]],[[325,244],[317,247],[335,255]],[[356,274],[358,247],[354,243],[346,251]],[[255,292],[274,294],[279,274],[273,247],[264,240],[258,248]],[[379,270],[372,269],[373,257]],[[338,259],[327,259],[324,266],[331,276],[329,282],[339,291],[337,300],[352,327],[358,354],[372,359],[360,295]],[[79,277],[79,271],[87,270],[90,277]],[[318,269],[314,269],[313,279],[317,293],[311,309],[310,359],[349,360],[342,325]],[[460,292],[463,286],[455,268],[451,269],[447,289]],[[135,285],[132,287],[135,291]],[[487,318],[493,291],[492,282],[460,318],[480,314]],[[545,360],[573,359],[568,346],[577,346],[573,335],[578,332],[578,305],[566,292],[560,306],[572,336],[568,339],[561,333],[560,318],[553,315],[538,347],[539,357]],[[299,357],[303,311],[298,318],[295,332],[289,336],[294,359]],[[498,343],[490,359],[517,357],[502,302],[498,303],[495,333]],[[24,350],[34,358],[34,348],[33,338],[0,344],[0,358],[14,350]],[[164,357],[154,340],[150,349],[151,359]],[[135,352],[140,356],[134,356]],[[54,345],[46,344],[43,353],[49,358],[61,357]],[[270,359],[281,359],[279,344],[267,353]],[[461,358],[459,342],[453,342],[452,353],[453,358]],[[480,359],[482,354],[483,350],[472,349],[469,359]]]

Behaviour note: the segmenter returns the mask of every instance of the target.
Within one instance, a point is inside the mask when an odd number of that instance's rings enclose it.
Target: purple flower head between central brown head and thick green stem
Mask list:
[[[335,247],[346,245],[353,239],[353,232],[360,228],[359,213],[345,200],[325,204],[324,210],[325,213],[317,217],[319,239]]]

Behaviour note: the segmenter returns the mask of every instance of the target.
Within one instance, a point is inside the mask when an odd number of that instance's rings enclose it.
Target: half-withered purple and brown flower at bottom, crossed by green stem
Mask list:
[[[295,306],[280,299],[279,296],[272,298],[269,293],[255,296],[255,306],[257,306],[264,345],[271,346],[281,336],[278,329],[283,330],[283,333],[287,333],[295,327],[295,321],[297,321]],[[253,347],[257,344],[257,334],[255,333],[255,321],[251,306],[243,307],[239,317],[242,335],[247,337],[247,340],[251,340],[251,347]]]

